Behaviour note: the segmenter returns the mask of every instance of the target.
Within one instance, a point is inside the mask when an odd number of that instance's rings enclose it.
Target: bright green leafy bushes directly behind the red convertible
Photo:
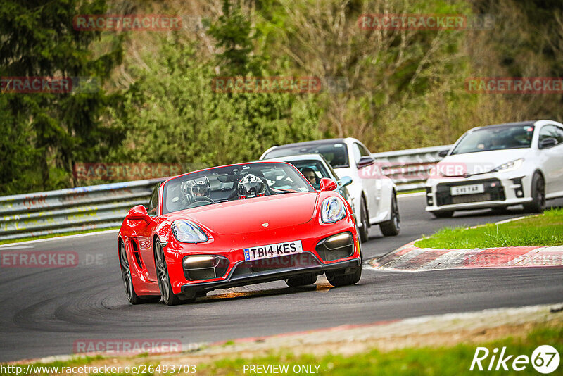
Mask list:
[[[127,147],[112,153],[112,161],[182,163],[194,170],[257,159],[272,144],[322,137],[320,109],[310,98],[214,92],[212,64],[198,62],[190,46],[162,43],[158,56],[166,58],[141,72],[126,96],[118,121],[128,130]]]

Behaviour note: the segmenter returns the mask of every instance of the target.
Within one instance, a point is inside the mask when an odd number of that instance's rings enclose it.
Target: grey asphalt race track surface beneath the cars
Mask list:
[[[550,201],[563,206],[563,200]],[[380,256],[445,225],[470,226],[524,215],[514,210],[458,212],[434,219],[424,196],[400,196],[401,233],[370,230],[365,258]],[[354,286],[284,282],[216,290],[195,303],[130,305],[121,280],[116,233],[89,234],[1,251],[75,251],[73,268],[0,268],[0,361],[73,353],[77,340],[170,339],[190,344],[345,324],[563,301],[563,268],[381,272],[364,267]]]

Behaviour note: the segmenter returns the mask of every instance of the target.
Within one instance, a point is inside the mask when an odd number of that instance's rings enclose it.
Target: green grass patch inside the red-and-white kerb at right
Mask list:
[[[443,227],[415,243],[420,248],[471,249],[498,246],[558,246],[563,244],[563,209],[476,228]]]

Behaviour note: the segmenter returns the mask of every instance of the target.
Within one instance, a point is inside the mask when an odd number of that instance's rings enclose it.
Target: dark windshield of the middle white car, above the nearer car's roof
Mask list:
[[[321,154],[333,168],[350,167],[348,164],[348,147],[341,142],[336,144],[302,144],[275,148],[265,158],[296,156],[299,154]]]

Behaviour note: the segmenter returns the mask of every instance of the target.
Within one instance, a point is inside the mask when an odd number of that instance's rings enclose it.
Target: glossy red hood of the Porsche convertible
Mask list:
[[[248,234],[309,222],[317,196],[317,192],[296,192],[214,203],[170,213],[168,218],[194,220],[217,234]]]

